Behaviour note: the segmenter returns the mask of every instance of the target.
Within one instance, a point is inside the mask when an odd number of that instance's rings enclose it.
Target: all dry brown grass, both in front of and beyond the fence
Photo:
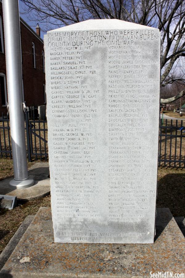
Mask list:
[[[167,121],[168,125],[170,125],[170,121]],[[2,123],[0,123],[2,124]],[[173,126],[175,122],[173,122]],[[180,127],[180,125],[178,124]],[[38,128],[39,125],[36,125]],[[40,128],[43,128],[40,127]],[[47,125],[46,125],[47,128]],[[4,135],[1,132],[2,139]],[[163,133],[165,133],[165,129],[163,129]],[[7,131],[6,131],[7,133]],[[39,134],[38,131],[36,131]],[[167,129],[167,134],[170,134],[170,129]],[[175,134],[175,131],[172,132]],[[177,132],[180,134],[180,132]],[[40,135],[43,136],[43,131],[40,132]],[[185,135],[185,133],[183,133]],[[8,144],[8,137],[5,134],[6,142]],[[46,132],[46,140],[47,140],[47,132]],[[167,137],[167,156],[166,158],[170,158],[170,140],[172,142],[171,148],[171,158],[175,157],[175,139],[170,139]],[[180,138],[177,138],[177,153],[176,158],[179,156],[180,144],[182,143],[182,157],[184,158],[184,150],[185,150],[185,138],[180,141]],[[165,150],[165,137],[162,137],[162,156],[164,157]],[[41,146],[39,140],[36,141],[36,148],[39,150],[44,150],[44,143],[41,142]],[[30,167],[35,162],[28,162],[28,167]],[[169,165],[169,164],[168,164]],[[173,163],[171,163],[173,166]],[[177,166],[177,165],[176,165]],[[181,164],[181,166],[184,166]],[[0,179],[4,179],[6,177],[13,176],[13,161],[12,159],[1,158],[0,159]],[[157,207],[169,207],[172,214],[174,216],[185,216],[185,169],[179,168],[167,168],[167,167],[159,167],[158,168],[158,197],[157,197]],[[19,228],[20,224],[24,221],[27,215],[35,215],[38,209],[41,206],[50,206],[50,196],[46,196],[39,200],[29,201],[26,204],[19,205],[13,210],[5,210],[0,209],[0,253],[6,244],[9,242],[10,238],[14,235],[16,230]]]

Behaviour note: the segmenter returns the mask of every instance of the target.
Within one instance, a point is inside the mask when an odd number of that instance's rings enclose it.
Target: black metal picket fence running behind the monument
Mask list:
[[[183,125],[184,122],[184,125]],[[12,158],[9,119],[0,119],[0,158]],[[48,159],[47,120],[29,120],[25,112],[25,137],[28,160]],[[185,168],[185,121],[163,120],[159,125],[159,166]]]

